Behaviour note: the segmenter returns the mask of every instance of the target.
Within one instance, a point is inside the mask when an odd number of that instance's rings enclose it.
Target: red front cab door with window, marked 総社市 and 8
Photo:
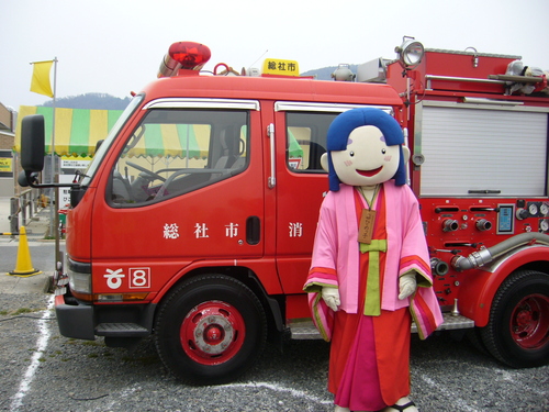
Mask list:
[[[146,105],[96,197],[96,291],[159,291],[191,263],[262,255],[259,122],[257,101]]]

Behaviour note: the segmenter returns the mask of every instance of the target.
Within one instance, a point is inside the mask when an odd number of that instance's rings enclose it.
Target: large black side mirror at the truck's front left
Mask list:
[[[44,116],[24,116],[21,121],[21,166],[27,176],[44,168]]]

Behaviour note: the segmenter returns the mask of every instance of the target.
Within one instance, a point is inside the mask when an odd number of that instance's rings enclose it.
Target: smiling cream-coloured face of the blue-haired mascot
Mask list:
[[[390,180],[400,162],[399,145],[388,146],[376,126],[359,126],[349,134],[345,151],[333,151],[339,180],[349,186],[373,186]]]

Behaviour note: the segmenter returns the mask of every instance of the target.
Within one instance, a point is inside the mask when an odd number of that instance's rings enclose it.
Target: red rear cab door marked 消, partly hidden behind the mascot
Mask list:
[[[285,294],[303,292],[318,211],[328,190],[321,156],[326,131],[339,111],[311,103],[274,105],[277,268]]]

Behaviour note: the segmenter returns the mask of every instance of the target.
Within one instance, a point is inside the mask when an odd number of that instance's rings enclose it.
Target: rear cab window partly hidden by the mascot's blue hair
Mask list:
[[[324,171],[321,166],[321,156],[326,153],[326,132],[337,114],[287,113],[287,164],[292,171]]]

